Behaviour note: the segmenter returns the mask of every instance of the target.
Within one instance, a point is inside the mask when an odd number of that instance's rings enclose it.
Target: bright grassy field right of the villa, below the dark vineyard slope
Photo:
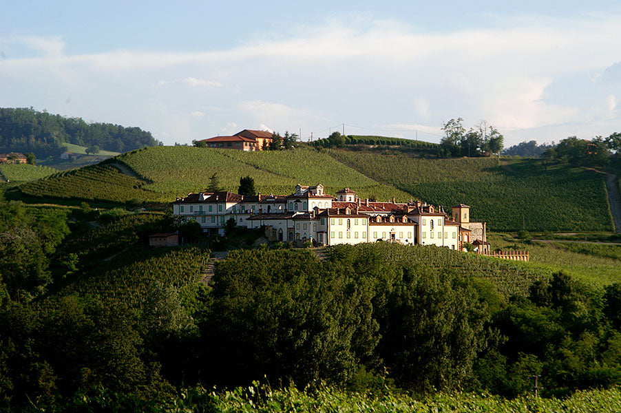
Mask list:
[[[621,246],[562,241],[521,243],[503,233],[488,234],[487,241],[494,249],[528,250],[527,266],[547,273],[565,271],[596,286],[621,282]]]

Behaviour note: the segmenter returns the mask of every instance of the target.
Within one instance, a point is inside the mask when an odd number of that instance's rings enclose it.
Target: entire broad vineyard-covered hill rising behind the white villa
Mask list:
[[[237,191],[252,176],[260,193],[289,193],[297,183],[326,193],[349,187],[360,198],[420,199],[445,209],[472,207],[490,231],[613,231],[605,176],[565,163],[534,159],[422,159],[344,149],[244,152],[196,147],[149,147],[98,165],[22,184],[8,196],[140,204],[171,202],[204,190],[213,173]]]

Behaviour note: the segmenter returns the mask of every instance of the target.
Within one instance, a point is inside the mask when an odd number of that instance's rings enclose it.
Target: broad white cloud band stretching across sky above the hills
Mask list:
[[[591,122],[593,134],[604,135],[611,131],[596,125],[621,129],[618,27],[615,14],[520,17],[494,28],[433,33],[399,21],[333,17],[229,50],[80,55],[65,54],[61,37],[19,38],[40,54],[0,61],[0,83],[9,85],[0,106],[63,113],[69,105],[54,109],[56,100],[72,96],[93,111],[74,115],[105,112],[116,117],[103,121],[129,118],[145,129],[175,130],[176,140],[186,141],[252,125],[302,127],[310,135],[341,123],[412,137],[414,130],[441,134],[443,121],[456,117],[467,126],[483,118],[508,143],[522,131],[554,135],[558,126],[564,134],[562,125],[576,122]],[[585,82],[580,91],[578,78]],[[189,123],[177,128],[182,118]]]

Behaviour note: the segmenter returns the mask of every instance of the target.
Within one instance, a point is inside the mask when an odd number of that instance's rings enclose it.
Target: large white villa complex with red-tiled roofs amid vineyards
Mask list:
[[[470,222],[470,207],[442,207],[420,201],[408,203],[361,200],[345,188],[337,197],[324,193],[322,185],[297,185],[291,195],[244,196],[232,192],[189,193],[173,202],[173,214],[196,220],[203,231],[224,233],[225,223],[266,228],[273,240],[319,245],[358,244],[386,240],[462,249],[464,242],[489,248],[485,222]]]

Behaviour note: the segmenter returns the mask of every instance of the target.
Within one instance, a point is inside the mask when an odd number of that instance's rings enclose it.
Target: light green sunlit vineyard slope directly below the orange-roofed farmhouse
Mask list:
[[[171,195],[204,190],[211,175],[218,173],[222,186],[231,191],[237,190],[241,177],[252,176],[257,191],[261,193],[288,194],[298,183],[320,183],[332,194],[343,187],[350,187],[362,198],[410,198],[409,194],[378,184],[326,153],[313,149],[242,152],[231,149],[152,147],[124,153],[118,160],[125,162],[140,176],[153,181],[145,189]]]

